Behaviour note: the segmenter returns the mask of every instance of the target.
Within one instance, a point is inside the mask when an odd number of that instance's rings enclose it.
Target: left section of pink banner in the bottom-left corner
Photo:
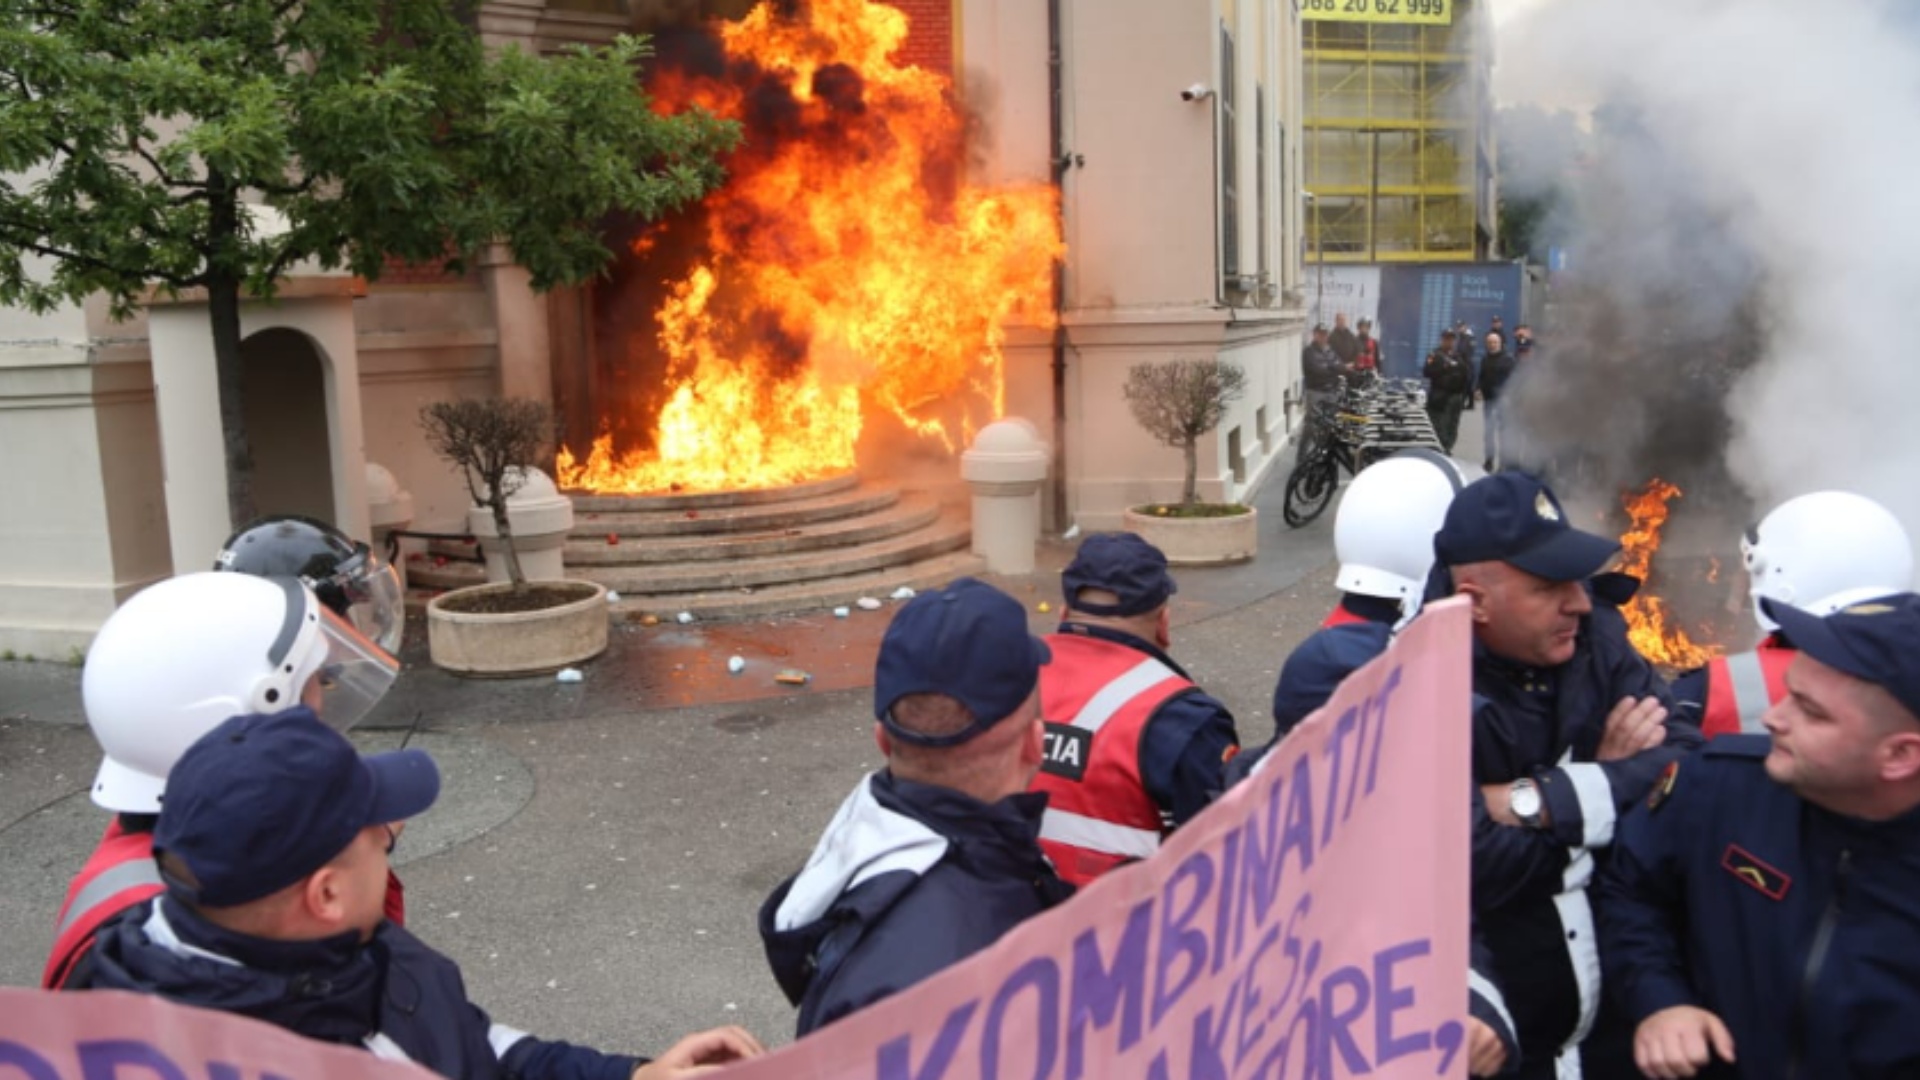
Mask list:
[[[434,1080],[419,1065],[119,990],[0,990],[0,1072],[19,1080]]]

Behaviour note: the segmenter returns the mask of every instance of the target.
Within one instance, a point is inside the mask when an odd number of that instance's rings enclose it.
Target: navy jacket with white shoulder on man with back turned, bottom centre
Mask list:
[[[760,907],[797,1034],[864,1009],[1073,896],[1041,851],[1046,796],[996,803],[874,773]]]

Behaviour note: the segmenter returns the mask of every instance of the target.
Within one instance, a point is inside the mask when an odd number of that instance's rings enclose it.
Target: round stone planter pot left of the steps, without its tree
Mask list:
[[[578,592],[540,611],[453,611],[459,598],[511,592],[513,584],[476,584],[436,596],[426,605],[426,651],[453,675],[543,675],[607,651],[607,588],[589,580],[532,582]]]

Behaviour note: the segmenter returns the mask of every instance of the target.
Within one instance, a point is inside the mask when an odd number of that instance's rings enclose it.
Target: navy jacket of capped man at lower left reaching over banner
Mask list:
[[[371,942],[269,942],[223,930],[165,894],[108,924],[67,990],[132,990],[363,1045],[447,1080],[628,1080],[639,1057],[545,1042],[495,1024],[461,969],[382,922]]]

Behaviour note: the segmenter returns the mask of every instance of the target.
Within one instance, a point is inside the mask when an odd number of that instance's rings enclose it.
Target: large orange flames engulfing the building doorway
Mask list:
[[[737,119],[728,181],[637,234],[659,304],[626,348],[657,354],[647,417],[599,417],[557,475],[595,492],[791,484],[856,465],[891,417],[952,450],[1004,407],[1002,327],[1052,325],[1054,190],[964,179],[966,117],[941,73],[897,50],[906,17],[870,0],[762,4],[668,56],[664,110]],[[660,252],[693,252],[662,258]]]

